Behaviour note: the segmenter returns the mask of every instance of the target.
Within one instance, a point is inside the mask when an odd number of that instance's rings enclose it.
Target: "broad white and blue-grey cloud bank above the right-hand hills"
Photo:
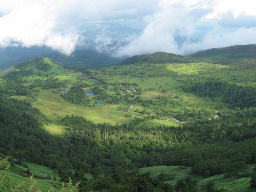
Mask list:
[[[141,36],[119,49],[121,56],[156,51],[189,54],[203,49],[254,44],[255,12],[247,0],[162,0],[159,10],[147,17]],[[241,5],[246,4],[246,9]],[[250,28],[250,29],[246,29]],[[179,36],[183,42],[175,41]]]

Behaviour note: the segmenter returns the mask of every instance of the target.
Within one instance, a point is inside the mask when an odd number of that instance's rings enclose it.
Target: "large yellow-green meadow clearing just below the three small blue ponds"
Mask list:
[[[122,124],[132,120],[118,112],[118,105],[95,105],[86,107],[69,103],[63,100],[59,94],[52,92],[39,93],[38,100],[34,102],[33,105],[40,108],[44,115],[53,122],[69,114],[83,116],[96,123]]]

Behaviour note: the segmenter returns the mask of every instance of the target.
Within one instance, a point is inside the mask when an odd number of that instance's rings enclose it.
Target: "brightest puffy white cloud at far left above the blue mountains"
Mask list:
[[[75,31],[72,31],[73,35],[58,32],[57,15],[46,5],[37,2],[18,4],[1,17],[0,46],[46,45],[65,54],[74,51],[78,38]]]

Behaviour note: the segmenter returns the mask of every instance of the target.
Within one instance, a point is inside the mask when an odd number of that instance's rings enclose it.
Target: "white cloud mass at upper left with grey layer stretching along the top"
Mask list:
[[[46,45],[70,54],[83,32],[80,21],[142,19],[156,4],[157,0],[3,0],[0,46]]]

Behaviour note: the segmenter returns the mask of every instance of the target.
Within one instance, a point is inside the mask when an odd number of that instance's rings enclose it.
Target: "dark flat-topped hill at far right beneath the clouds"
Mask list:
[[[230,47],[207,49],[204,51],[196,52],[190,56],[202,58],[229,57],[229,59],[256,58],[256,44],[235,45]]]

